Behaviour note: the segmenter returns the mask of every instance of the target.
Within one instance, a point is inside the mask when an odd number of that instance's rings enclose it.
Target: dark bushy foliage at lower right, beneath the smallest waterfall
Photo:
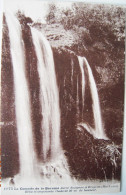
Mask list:
[[[74,177],[120,179],[121,147],[111,140],[94,139],[85,129],[76,131],[75,143],[74,148],[66,153]]]

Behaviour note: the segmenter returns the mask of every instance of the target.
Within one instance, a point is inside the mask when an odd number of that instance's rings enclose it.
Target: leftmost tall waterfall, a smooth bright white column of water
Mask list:
[[[19,21],[12,14],[6,14],[13,64],[15,109],[19,143],[21,177],[34,174],[35,153],[33,147],[32,123],[30,118],[30,96],[25,75],[25,54]]]

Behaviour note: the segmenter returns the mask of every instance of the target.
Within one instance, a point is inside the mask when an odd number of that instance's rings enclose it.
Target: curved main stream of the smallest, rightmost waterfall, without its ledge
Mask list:
[[[94,123],[95,123],[95,137],[99,139],[106,139],[106,135],[102,123],[101,109],[100,109],[96,83],[92,74],[92,70],[88,64],[88,61],[86,60],[86,58],[83,59],[89,75],[90,91],[92,96],[92,109],[93,109]]]

